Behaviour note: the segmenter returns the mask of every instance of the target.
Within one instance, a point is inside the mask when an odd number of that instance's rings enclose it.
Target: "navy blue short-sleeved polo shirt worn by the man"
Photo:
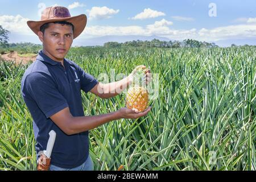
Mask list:
[[[69,107],[73,117],[84,116],[81,90],[89,92],[98,81],[71,60],[64,59],[64,67],[39,51],[22,77],[21,92],[33,119],[37,154],[46,150],[49,131],[54,130],[51,164],[75,168],[88,158],[88,131],[66,135],[49,117],[65,107]]]

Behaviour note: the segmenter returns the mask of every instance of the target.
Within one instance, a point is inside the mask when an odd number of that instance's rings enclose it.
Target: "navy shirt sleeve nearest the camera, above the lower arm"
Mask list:
[[[30,73],[24,82],[24,91],[36,102],[46,118],[68,107],[67,100],[47,74]]]

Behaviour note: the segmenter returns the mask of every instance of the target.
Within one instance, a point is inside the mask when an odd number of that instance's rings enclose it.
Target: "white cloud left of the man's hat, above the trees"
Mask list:
[[[12,33],[19,34],[34,34],[30,28],[27,26],[27,21],[29,19],[23,18],[21,15],[9,16],[3,15],[0,16],[0,24],[6,30],[9,30]]]

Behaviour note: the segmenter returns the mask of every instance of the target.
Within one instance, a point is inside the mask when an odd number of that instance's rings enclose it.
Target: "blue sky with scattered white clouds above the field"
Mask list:
[[[73,45],[126,36],[136,40],[154,36],[196,39],[220,46],[256,44],[253,0],[0,0],[0,4],[0,25],[10,31],[9,41],[14,43],[40,43],[26,22],[40,20],[45,7],[59,5],[68,7],[72,16],[86,14],[88,18],[85,30]]]

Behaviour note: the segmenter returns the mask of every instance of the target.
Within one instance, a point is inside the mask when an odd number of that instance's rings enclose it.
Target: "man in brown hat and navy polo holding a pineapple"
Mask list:
[[[37,158],[39,151],[46,150],[49,131],[56,132],[50,170],[93,170],[88,131],[116,119],[143,117],[150,111],[150,107],[142,113],[122,108],[113,113],[84,116],[81,90],[101,98],[117,96],[115,90],[126,89],[137,70],[123,80],[102,84],[65,59],[86,21],[84,14],[72,17],[67,8],[54,6],[42,12],[40,21],[27,22],[39,36],[43,50],[23,75],[22,97],[33,118]],[[151,78],[149,72],[146,76]]]

